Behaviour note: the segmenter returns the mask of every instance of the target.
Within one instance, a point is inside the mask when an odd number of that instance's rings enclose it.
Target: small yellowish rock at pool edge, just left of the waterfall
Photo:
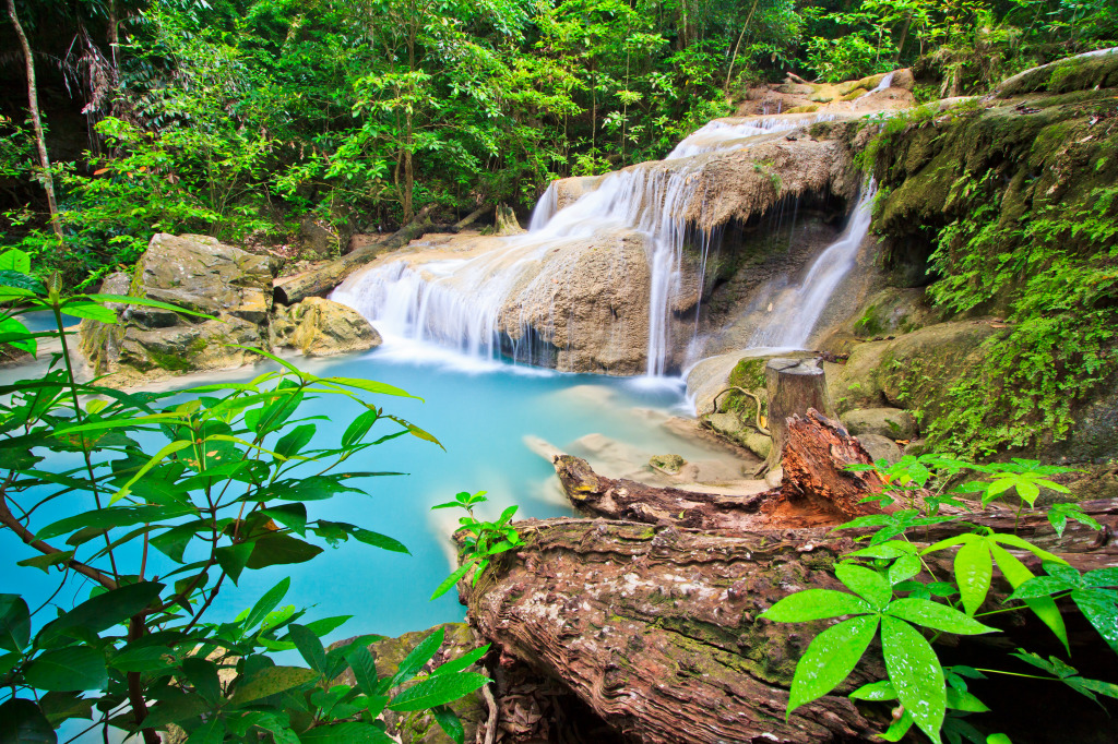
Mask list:
[[[377,330],[352,307],[321,297],[307,297],[291,307],[276,307],[273,343],[306,356],[333,356],[380,345]]]

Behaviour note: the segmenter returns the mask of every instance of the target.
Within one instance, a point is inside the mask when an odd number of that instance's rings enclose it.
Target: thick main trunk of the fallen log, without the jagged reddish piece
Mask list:
[[[837,742],[882,722],[830,695],[785,721],[805,627],[755,622],[800,588],[840,589],[847,538],[745,536],[604,519],[518,523],[528,546],[494,580],[464,586],[470,619],[505,655],[561,679],[598,716],[647,744]],[[824,627],[817,623],[821,629]],[[879,678],[860,668],[843,690]]]

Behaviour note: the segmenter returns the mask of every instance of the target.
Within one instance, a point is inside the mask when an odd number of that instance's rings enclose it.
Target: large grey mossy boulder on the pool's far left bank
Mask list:
[[[127,294],[212,317],[129,305],[116,325],[83,321],[80,349],[97,373],[230,369],[258,357],[229,344],[267,347],[272,274],[265,257],[206,236],[159,233],[136,264]]]

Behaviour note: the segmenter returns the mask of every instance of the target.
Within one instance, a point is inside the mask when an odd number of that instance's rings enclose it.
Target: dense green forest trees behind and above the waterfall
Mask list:
[[[523,212],[787,73],[913,67],[931,99],[1118,39],[1116,0],[6,2],[0,244],[73,285],[158,231]]]

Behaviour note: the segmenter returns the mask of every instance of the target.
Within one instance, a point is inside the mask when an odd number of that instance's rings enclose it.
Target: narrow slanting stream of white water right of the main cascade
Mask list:
[[[768,318],[749,340],[749,347],[803,349],[843,277],[854,268],[858,249],[870,232],[877,184],[862,189],[843,233],[826,247],[804,280],[787,287],[773,302]]]

